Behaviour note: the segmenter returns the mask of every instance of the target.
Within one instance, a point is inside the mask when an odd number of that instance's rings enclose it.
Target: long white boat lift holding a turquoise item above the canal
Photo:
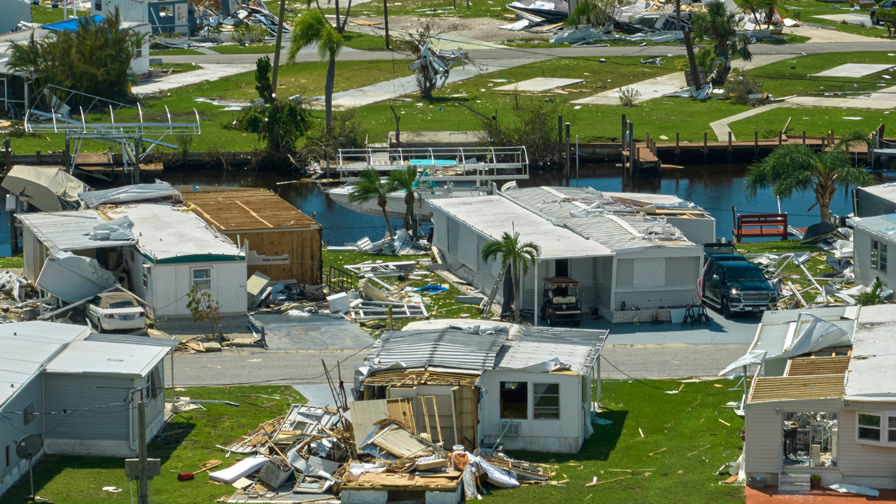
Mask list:
[[[392,170],[409,166],[418,167],[420,182],[529,178],[529,155],[524,146],[340,149],[335,169],[342,181],[352,182],[366,169],[388,176]]]

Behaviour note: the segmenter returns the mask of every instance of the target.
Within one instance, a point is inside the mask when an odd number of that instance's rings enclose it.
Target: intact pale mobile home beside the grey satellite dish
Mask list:
[[[28,468],[15,455],[26,434],[45,454],[136,456],[137,401],[146,403],[146,439],[164,424],[162,359],[177,344],[161,338],[93,335],[87,326],[21,322],[0,326],[0,495]]]

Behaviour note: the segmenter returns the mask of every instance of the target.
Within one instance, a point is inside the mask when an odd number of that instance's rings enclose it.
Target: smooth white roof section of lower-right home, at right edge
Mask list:
[[[845,400],[896,401],[896,305],[862,307],[847,376]]]

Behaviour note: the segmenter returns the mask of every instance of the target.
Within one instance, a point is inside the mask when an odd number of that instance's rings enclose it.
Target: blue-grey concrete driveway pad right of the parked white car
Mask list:
[[[374,343],[374,338],[358,326],[330,314],[255,315],[264,326],[269,351],[359,350]]]

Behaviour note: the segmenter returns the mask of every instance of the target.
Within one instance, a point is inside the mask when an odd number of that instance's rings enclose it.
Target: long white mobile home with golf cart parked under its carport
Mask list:
[[[497,196],[429,200],[434,245],[453,274],[491,291],[500,261],[483,262],[483,245],[512,231],[538,244],[542,254],[525,275],[521,294],[522,308],[536,312],[544,296],[541,279],[550,276],[581,282],[582,312],[597,309],[613,323],[646,321],[654,314],[668,320],[668,308],[692,302],[702,246],[664,217],[614,210],[612,202],[601,202],[605,196],[586,189],[563,190],[531,187]],[[503,300],[500,292],[497,299]]]

